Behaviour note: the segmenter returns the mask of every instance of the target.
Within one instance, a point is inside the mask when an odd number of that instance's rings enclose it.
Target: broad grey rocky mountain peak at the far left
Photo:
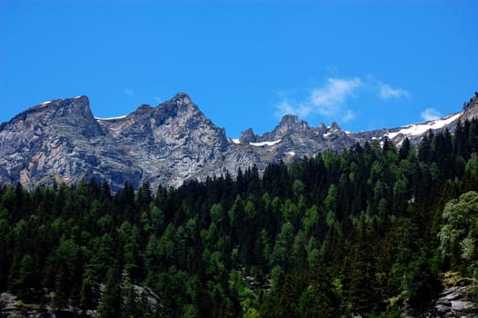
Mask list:
[[[142,175],[85,96],[39,104],[0,125],[0,167],[2,184],[27,187],[83,178],[137,184]]]

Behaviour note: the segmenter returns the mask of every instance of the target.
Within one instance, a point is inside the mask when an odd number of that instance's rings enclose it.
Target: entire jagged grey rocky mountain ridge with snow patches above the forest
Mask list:
[[[95,118],[86,96],[45,102],[0,124],[0,184],[105,181],[113,190],[125,182],[138,187],[180,186],[188,180],[245,170],[254,164],[290,163],[326,150],[339,152],[356,143],[385,138],[401,144],[419,141],[432,129],[453,132],[462,118],[478,115],[478,96],[461,113],[394,129],[351,133],[338,124],[310,127],[285,115],[270,133],[246,130],[230,139],[184,93],[156,107],[143,104],[132,114]]]

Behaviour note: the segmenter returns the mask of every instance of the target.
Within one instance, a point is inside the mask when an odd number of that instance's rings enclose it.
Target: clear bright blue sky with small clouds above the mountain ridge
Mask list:
[[[349,131],[458,112],[478,1],[0,1],[0,122],[85,94],[97,117],[185,92],[238,137],[283,114]]]

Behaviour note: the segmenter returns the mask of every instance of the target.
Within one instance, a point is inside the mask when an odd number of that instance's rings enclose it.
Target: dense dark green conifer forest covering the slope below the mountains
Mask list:
[[[418,314],[440,273],[476,273],[477,154],[473,120],[177,189],[4,185],[0,291],[100,317]]]

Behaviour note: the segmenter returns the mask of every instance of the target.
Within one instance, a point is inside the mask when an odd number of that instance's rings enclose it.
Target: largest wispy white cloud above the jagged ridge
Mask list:
[[[300,117],[307,117],[313,114],[321,114],[326,117],[342,116],[343,122],[354,119],[355,113],[346,109],[346,100],[354,97],[354,91],[363,86],[360,78],[328,78],[323,87],[314,88],[307,94],[302,102],[287,99],[284,95],[283,101],[277,104],[277,115],[296,114]]]

